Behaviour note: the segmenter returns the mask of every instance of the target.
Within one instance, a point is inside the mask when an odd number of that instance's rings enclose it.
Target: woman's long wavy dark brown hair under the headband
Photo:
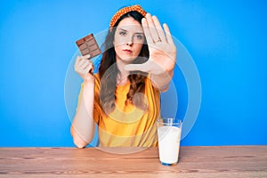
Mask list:
[[[110,28],[103,46],[104,52],[102,54],[101,64],[99,68],[99,75],[101,80],[100,101],[101,108],[105,111],[106,114],[109,114],[115,109],[117,74],[119,73],[116,64],[116,52],[113,45],[114,35],[118,23],[127,17],[132,17],[134,18],[134,20],[137,20],[140,22],[140,24],[142,24],[141,21],[143,16],[141,13],[135,11],[125,13],[117,20],[114,27]],[[139,56],[134,60],[133,63],[144,63],[149,59],[149,56],[150,52],[145,40]],[[144,102],[143,94],[138,94],[138,97],[134,96],[135,93],[144,93],[146,76],[147,73],[141,71],[130,72],[128,80],[130,81],[131,85],[129,92],[127,93],[125,104],[134,104],[134,106],[139,109],[147,108],[147,105]]]

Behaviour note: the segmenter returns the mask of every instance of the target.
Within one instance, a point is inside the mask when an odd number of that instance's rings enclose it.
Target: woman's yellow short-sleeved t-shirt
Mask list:
[[[100,78],[95,74],[93,119],[99,125],[100,147],[151,147],[157,146],[156,120],[160,115],[160,92],[150,79],[145,79],[144,98],[148,109],[136,108],[133,104],[125,105],[130,82],[117,85],[116,107],[109,113],[100,105]],[[83,85],[82,85],[83,90]],[[142,94],[142,93],[139,93]]]

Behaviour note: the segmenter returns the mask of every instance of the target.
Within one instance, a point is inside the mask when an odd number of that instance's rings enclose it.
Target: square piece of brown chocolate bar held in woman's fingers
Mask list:
[[[101,49],[99,48],[98,44],[96,43],[96,40],[93,36],[93,34],[90,34],[88,36],[85,36],[79,40],[76,41],[76,44],[82,53],[82,55],[90,54],[90,59],[92,59],[94,56],[97,56],[101,53]]]

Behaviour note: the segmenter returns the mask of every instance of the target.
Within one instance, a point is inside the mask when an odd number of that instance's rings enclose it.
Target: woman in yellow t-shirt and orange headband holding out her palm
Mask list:
[[[176,48],[166,24],[140,5],[125,7],[110,21],[99,73],[89,56],[78,56],[83,77],[71,135],[78,148],[93,140],[101,147],[157,146],[160,91],[173,77]]]

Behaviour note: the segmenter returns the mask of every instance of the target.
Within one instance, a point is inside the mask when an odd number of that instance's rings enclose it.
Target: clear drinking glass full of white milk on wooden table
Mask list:
[[[158,153],[160,163],[173,166],[178,163],[182,120],[177,118],[158,118]]]

